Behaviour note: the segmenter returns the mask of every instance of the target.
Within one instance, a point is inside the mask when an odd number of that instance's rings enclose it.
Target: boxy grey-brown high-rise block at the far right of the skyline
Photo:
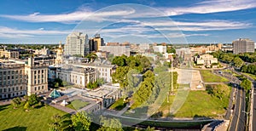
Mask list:
[[[237,39],[236,41],[233,41],[232,45],[233,45],[233,54],[254,52],[254,42],[248,38]]]

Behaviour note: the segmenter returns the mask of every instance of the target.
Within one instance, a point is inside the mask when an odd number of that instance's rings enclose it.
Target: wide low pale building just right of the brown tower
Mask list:
[[[131,48],[128,46],[102,46],[100,50],[107,51],[114,56],[121,56],[123,54],[130,56]]]

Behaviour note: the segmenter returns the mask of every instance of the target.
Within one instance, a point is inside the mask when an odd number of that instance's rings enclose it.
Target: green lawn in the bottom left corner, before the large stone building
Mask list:
[[[51,106],[43,106],[25,111],[23,107],[13,109],[11,105],[0,106],[0,129],[5,130],[49,130],[48,123],[55,114],[67,115]]]

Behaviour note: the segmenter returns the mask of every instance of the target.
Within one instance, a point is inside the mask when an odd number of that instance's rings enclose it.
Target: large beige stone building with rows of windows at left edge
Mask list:
[[[0,99],[22,95],[44,94],[48,91],[48,64],[28,61],[1,60]]]

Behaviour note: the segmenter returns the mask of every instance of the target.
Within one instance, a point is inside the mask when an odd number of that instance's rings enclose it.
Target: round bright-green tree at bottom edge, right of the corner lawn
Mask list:
[[[90,129],[90,117],[84,111],[77,112],[71,117],[73,128],[76,131],[89,131]]]

